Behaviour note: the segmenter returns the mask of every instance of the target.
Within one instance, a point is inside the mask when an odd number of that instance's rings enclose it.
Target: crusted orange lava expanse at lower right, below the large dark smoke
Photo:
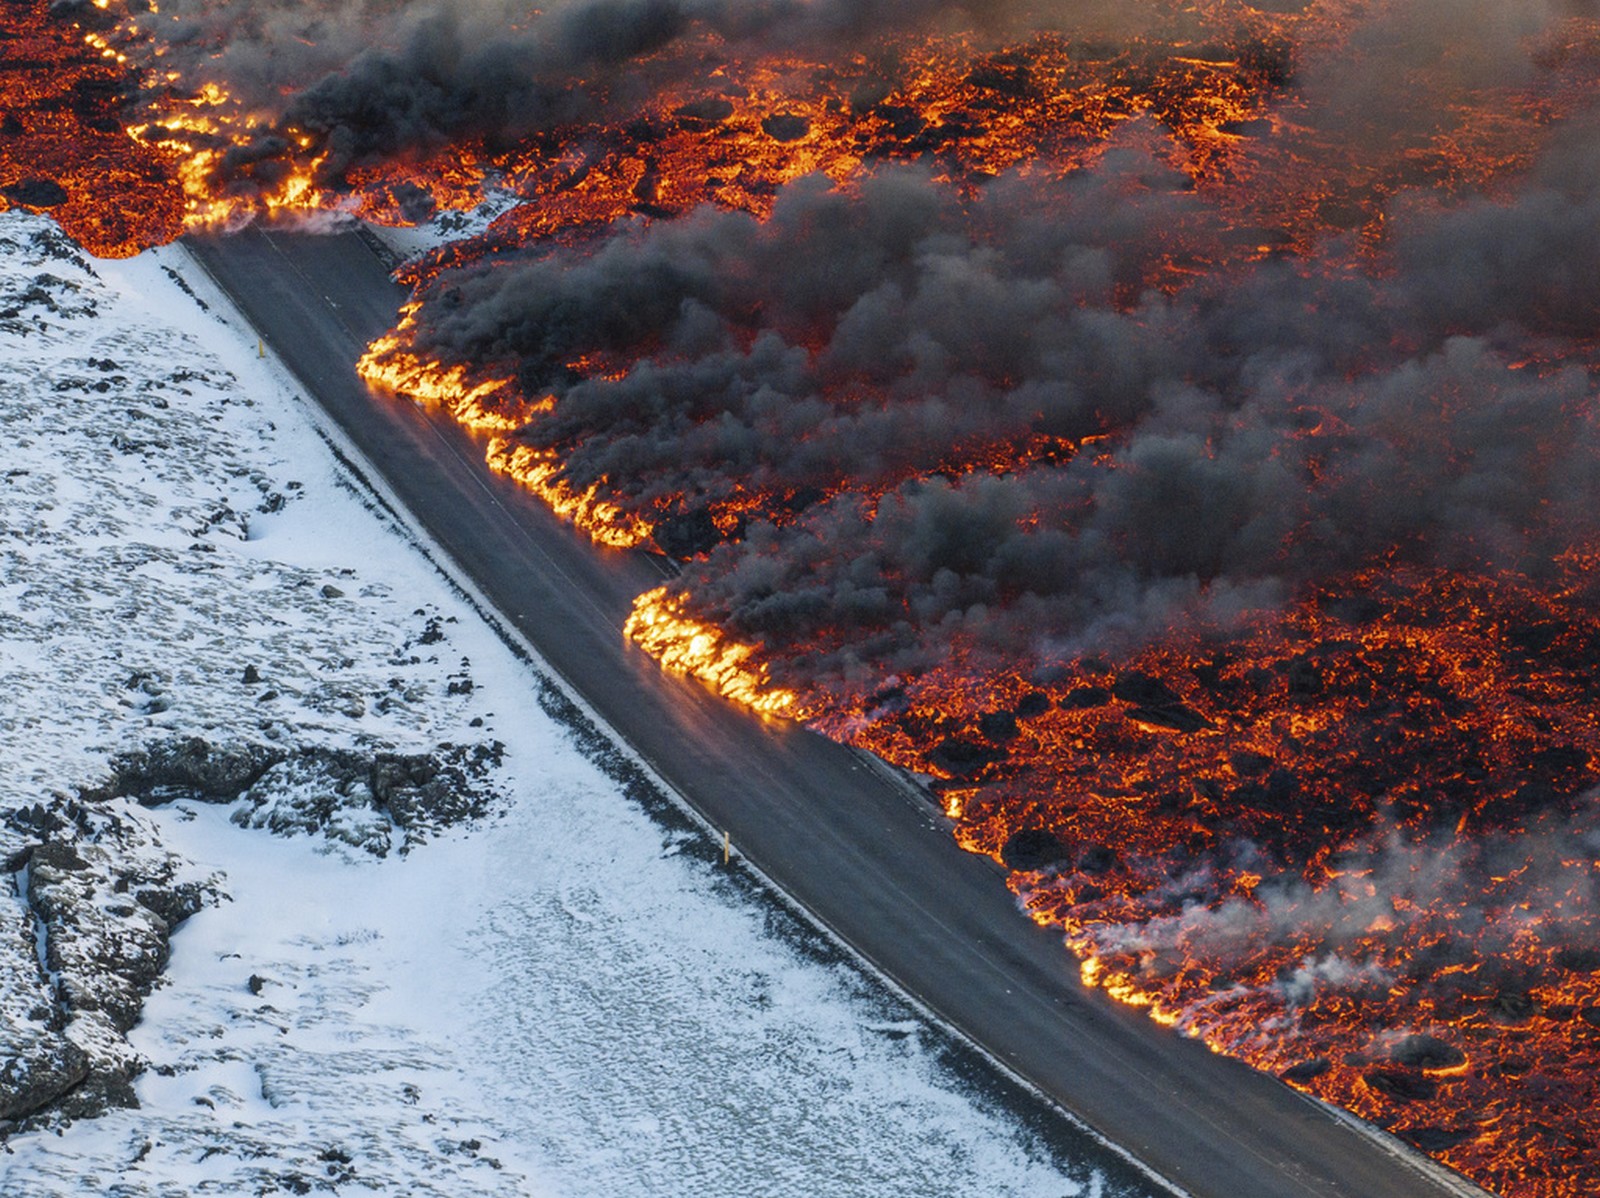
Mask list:
[[[1046,683],[936,672],[853,739],[949,777],[1086,982],[1498,1193],[1581,1193],[1597,661],[1587,606],[1368,574]]]

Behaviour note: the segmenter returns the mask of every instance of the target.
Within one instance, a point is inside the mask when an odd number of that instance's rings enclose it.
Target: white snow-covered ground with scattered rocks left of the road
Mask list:
[[[0,216],[0,1081],[139,1104],[0,1193],[1146,1188],[624,797],[182,250]]]

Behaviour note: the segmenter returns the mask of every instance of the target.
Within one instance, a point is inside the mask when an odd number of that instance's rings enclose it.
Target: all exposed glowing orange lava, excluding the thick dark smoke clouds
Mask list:
[[[1403,3],[1133,8],[1139,21],[1115,35],[914,30],[827,54],[800,42],[746,53],[696,29],[642,54],[626,86],[587,82],[590,107],[512,144],[462,134],[341,165],[325,130],[286,115],[293,96],[253,107],[238,88],[186,78],[158,6],[66,18],[30,0],[0,13],[0,195],[53,211],[99,254],[248,219],[403,224],[488,189],[517,197],[478,237],[403,267],[418,298],[362,374],[483,433],[494,470],[598,544],[706,565],[752,529],[805,534],[830,505],[870,531],[918,480],[955,491],[1074,462],[1115,469],[1128,430],[1110,409],[1067,432],[1022,409],[936,451],[894,443],[870,481],[826,462],[802,481],[694,493],[578,472],[549,379],[626,379],[677,350],[642,336],[562,349],[538,371],[512,350],[451,358],[427,333],[454,302],[456,267],[626,245],[707,208],[770,227],[797,181],[848,195],[885,163],[917,163],[978,211],[997,176],[1138,162],[1168,173],[1150,190],[1186,203],[1170,206],[1160,254],[1107,278],[1109,312],[1158,312],[1261,262],[1382,275],[1397,197],[1504,194],[1600,78],[1600,29],[1582,18],[1512,30],[1502,61],[1466,37],[1442,43]],[[1413,96],[1427,102],[1413,110]],[[982,237],[974,226],[963,242]],[[768,331],[760,310],[742,315],[730,355]],[[784,331],[797,357],[819,353],[813,329]],[[1538,344],[1515,369],[1592,357],[1589,342]],[[861,373],[826,398],[840,419],[896,401],[891,382]],[[1296,438],[1347,433],[1309,403],[1302,414]],[[1070,502],[1014,520],[1048,533],[1080,515]],[[1578,1198],[1600,1174],[1600,558],[1578,544],[1554,573],[1494,573],[1405,565],[1403,550],[1230,624],[1104,653],[1043,645],[1008,659],[974,617],[942,635],[936,664],[872,681],[811,681],[811,657],[851,648],[842,624],[770,638],[712,616],[693,581],[640,597],[626,633],[752,710],[926,776],[958,841],[1011,870],[1019,904],[1061,931],[1088,985],[1499,1193]],[[856,593],[909,625],[893,582]]]

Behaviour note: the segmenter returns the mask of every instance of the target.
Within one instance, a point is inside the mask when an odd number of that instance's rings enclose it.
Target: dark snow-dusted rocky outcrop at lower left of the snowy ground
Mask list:
[[[238,803],[237,824],[384,856],[488,813],[499,742],[402,753],[176,737],[123,753],[77,797],[0,797],[0,1139],[138,1105],[126,1032],[171,934],[222,880],[160,843],[144,808]]]

